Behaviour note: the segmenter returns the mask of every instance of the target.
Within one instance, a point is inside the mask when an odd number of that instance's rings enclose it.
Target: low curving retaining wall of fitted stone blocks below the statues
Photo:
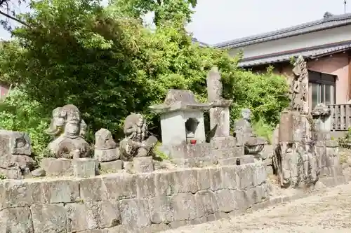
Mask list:
[[[0,232],[157,232],[269,199],[263,164],[0,182]]]

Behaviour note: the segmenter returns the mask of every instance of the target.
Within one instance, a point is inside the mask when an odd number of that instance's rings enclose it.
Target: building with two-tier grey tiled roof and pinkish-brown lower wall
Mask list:
[[[310,109],[316,104],[346,104],[351,99],[351,13],[332,15],[277,31],[213,45],[230,55],[243,52],[239,66],[291,75],[291,57],[302,55],[309,73]],[[351,106],[350,106],[351,107]],[[351,127],[351,115],[342,119]]]

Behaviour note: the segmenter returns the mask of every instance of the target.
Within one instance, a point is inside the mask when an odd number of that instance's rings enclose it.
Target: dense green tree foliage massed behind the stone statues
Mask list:
[[[121,124],[131,112],[146,114],[150,129],[159,136],[158,117],[147,111],[147,106],[163,101],[169,88],[192,90],[199,100],[206,101],[206,74],[213,66],[218,66],[223,76],[224,97],[234,99],[231,120],[239,116],[241,108],[251,108],[256,122],[276,124],[279,112],[288,104],[284,78],[274,76],[271,70],[265,74],[243,71],[237,68],[239,57],[192,43],[180,23],[180,18],[190,13],[174,7],[176,3],[180,2],[163,1],[162,8],[181,17],[159,13],[162,23],[150,31],[138,15],[123,13],[116,5],[103,8],[95,0],[33,2],[32,12],[22,16],[30,27],[13,31],[17,41],[0,48],[2,78],[22,90],[4,103],[15,107],[23,101],[27,106],[19,108],[25,116],[13,110],[2,112],[8,119],[4,127],[29,132],[33,144],[38,145],[36,153],[41,153],[47,145],[41,132],[51,110],[75,104],[90,127],[88,141],[93,141],[93,133],[102,127],[119,138]],[[150,10],[146,6],[140,9],[138,14]],[[29,117],[32,122],[25,125]],[[17,120],[20,125],[15,125]]]

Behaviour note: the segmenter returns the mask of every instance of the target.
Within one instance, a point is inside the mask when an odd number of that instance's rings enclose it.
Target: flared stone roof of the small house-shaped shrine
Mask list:
[[[213,104],[199,103],[194,93],[190,90],[170,89],[164,99],[164,104],[150,106],[156,113],[168,113],[172,111],[206,111]]]

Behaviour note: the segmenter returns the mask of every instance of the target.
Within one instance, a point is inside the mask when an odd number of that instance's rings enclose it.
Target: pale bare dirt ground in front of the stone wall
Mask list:
[[[322,193],[201,225],[163,233],[351,233],[351,183]]]

